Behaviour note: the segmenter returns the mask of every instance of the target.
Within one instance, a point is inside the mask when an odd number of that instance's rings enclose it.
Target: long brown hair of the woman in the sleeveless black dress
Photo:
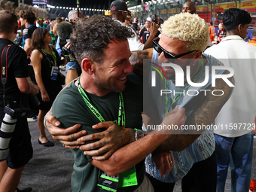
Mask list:
[[[38,49],[41,50],[44,47],[44,36],[47,34],[47,29],[45,28],[38,28],[32,34],[31,38],[31,50]]]

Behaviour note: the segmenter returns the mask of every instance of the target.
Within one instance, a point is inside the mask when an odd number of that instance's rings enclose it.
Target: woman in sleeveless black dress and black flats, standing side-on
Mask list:
[[[50,110],[54,99],[60,90],[62,90],[61,77],[59,75],[60,61],[58,53],[53,46],[50,46],[51,36],[47,29],[35,29],[32,35],[32,55],[31,62],[35,72],[35,79],[40,88],[41,95],[38,100],[39,105],[38,114],[38,128],[40,131],[40,138],[38,143],[44,147],[53,147],[53,143],[47,139],[44,127],[44,115]],[[56,74],[56,75],[54,75]]]

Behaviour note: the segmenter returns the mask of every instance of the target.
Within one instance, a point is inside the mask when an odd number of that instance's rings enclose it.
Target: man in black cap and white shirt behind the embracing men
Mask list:
[[[113,15],[113,19],[119,21],[123,24],[126,19],[126,14],[130,13],[127,9],[127,5],[125,2],[121,0],[115,0],[110,5],[111,14]],[[127,26],[130,27],[130,26]],[[151,35],[148,37],[148,41],[145,44],[142,44],[139,41],[139,38],[134,32],[133,38],[128,38],[130,50],[145,50],[152,47],[152,40],[154,39],[155,35],[157,34],[158,25],[157,23],[151,23],[150,33]]]

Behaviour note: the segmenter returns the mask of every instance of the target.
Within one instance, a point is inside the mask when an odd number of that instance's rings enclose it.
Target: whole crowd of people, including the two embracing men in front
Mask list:
[[[32,108],[28,98],[37,98],[37,109],[26,113],[38,119],[38,144],[54,146],[47,127],[71,149],[74,192],[169,192],[177,181],[183,192],[222,192],[229,166],[232,191],[253,191],[256,28],[244,41],[250,14],[228,9],[215,34],[190,1],[182,13],[166,21],[152,15],[142,28],[125,2],[114,0],[110,9],[112,18],[70,11],[68,21],[52,23],[32,11],[19,19],[0,11],[2,124],[13,122],[6,108]],[[63,38],[59,31],[69,27]],[[22,44],[14,44],[18,30]],[[27,116],[10,115],[17,122],[12,133],[1,126],[0,140],[10,143],[0,142],[0,191],[31,192],[17,188],[33,153]]]

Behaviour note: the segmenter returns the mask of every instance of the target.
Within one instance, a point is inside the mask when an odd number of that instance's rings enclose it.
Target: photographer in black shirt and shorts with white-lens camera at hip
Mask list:
[[[14,44],[17,29],[17,16],[9,11],[0,11],[0,191],[29,192],[32,188],[17,189],[21,173],[33,154],[25,115],[27,109],[22,106],[27,96],[23,93],[35,95],[39,88],[29,78],[26,52]]]

